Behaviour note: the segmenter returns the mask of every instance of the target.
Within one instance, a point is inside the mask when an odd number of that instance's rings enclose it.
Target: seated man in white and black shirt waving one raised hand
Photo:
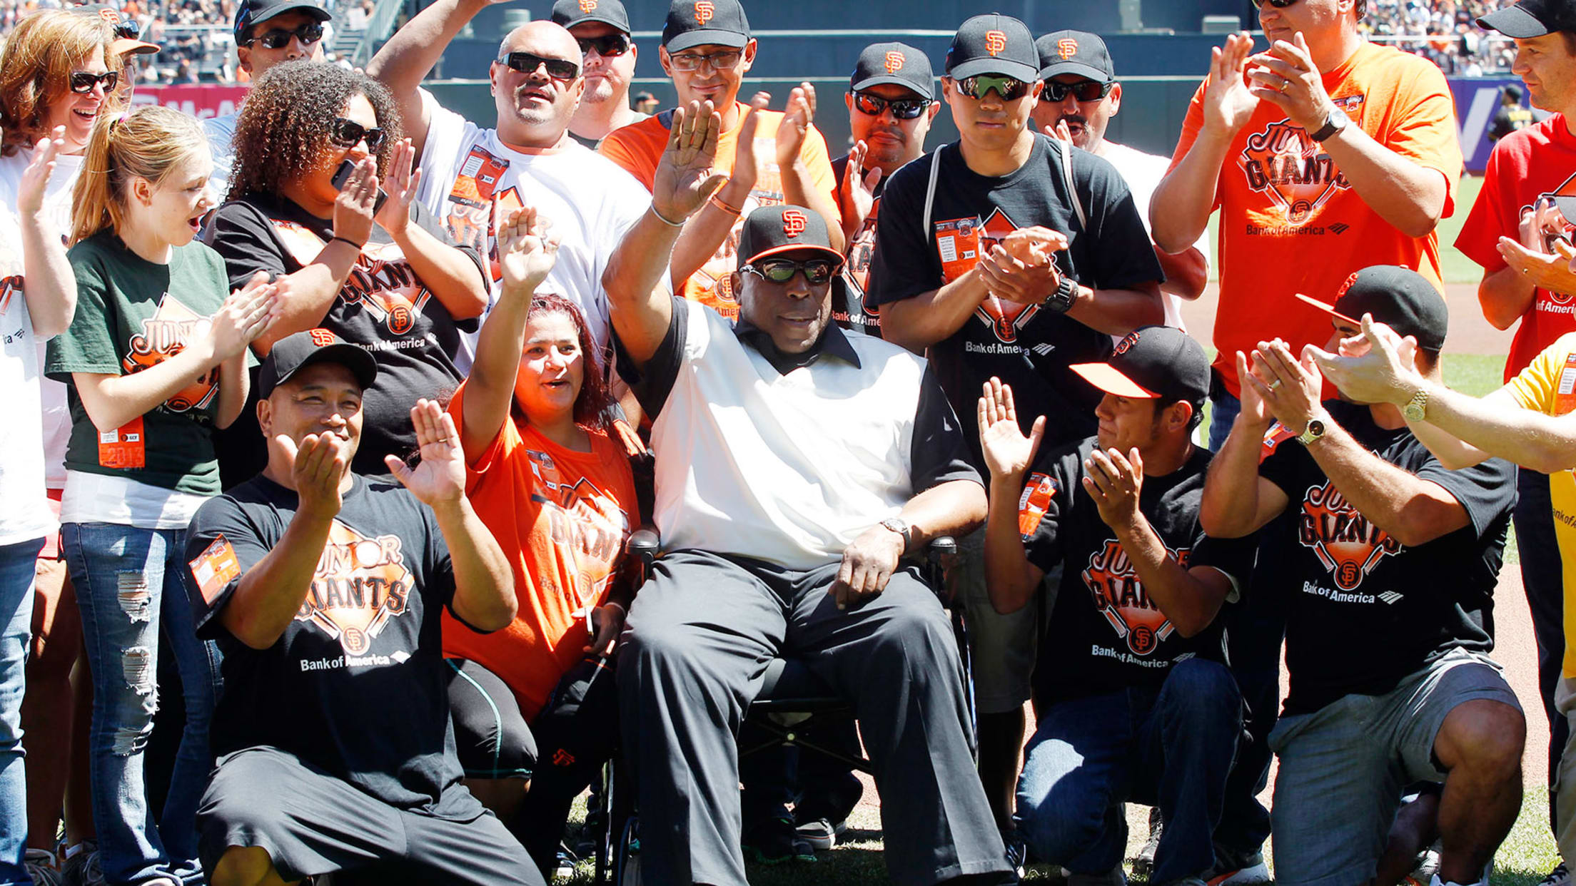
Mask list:
[[[816,211],[745,219],[738,325],[670,295],[673,244],[720,180],[717,126],[709,106],[675,112],[652,207],[604,276],[619,372],[654,416],[662,534],[618,670],[641,877],[745,883],[734,736],[794,656],[860,720],[892,880],[1005,881],[952,626],[900,563],[979,525],[983,486],[925,363],[831,322],[843,257]]]

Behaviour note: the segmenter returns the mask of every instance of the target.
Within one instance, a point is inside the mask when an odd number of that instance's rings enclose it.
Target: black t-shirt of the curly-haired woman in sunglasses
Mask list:
[[[454,244],[421,203],[411,205],[411,222]],[[331,219],[315,218],[290,200],[266,194],[224,203],[206,232],[208,244],[224,257],[232,287],[246,285],[257,271],[271,277],[293,274],[312,263],[333,236]],[[468,246],[459,249],[487,279],[481,254]],[[394,238],[374,225],[367,248],[322,322],[325,329],[372,352],[378,363],[378,378],[362,397],[366,416],[353,463],[358,473],[385,475],[383,456],[403,459],[416,451],[410,408],[421,397],[446,399],[460,386],[465,375],[454,366],[460,333],[474,333],[478,323],[476,318],[455,320],[416,276]],[[255,377],[252,382],[252,400],[219,438],[219,471],[225,487],[246,482],[268,463],[257,427]]]

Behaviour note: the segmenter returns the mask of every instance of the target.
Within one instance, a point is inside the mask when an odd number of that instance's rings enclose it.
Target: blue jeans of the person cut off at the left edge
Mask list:
[[[33,626],[33,564],[44,539],[0,545],[0,884],[32,883],[27,850],[27,772],[22,694]]]

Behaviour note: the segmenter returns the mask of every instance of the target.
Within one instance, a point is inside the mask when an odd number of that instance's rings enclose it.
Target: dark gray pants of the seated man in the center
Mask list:
[[[963,664],[946,610],[911,571],[838,610],[827,594],[835,575],[835,563],[794,571],[698,550],[654,564],[630,607],[618,675],[643,878],[745,883],[736,736],[779,654],[804,659],[853,702],[894,881],[1007,872],[974,774]]]

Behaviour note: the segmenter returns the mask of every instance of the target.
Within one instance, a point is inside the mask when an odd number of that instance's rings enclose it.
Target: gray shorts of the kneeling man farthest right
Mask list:
[[[1458,705],[1489,698],[1521,711],[1500,665],[1451,650],[1384,695],[1346,695],[1270,732],[1280,757],[1270,828],[1281,886],[1373,880],[1412,782],[1444,782],[1434,736]]]

